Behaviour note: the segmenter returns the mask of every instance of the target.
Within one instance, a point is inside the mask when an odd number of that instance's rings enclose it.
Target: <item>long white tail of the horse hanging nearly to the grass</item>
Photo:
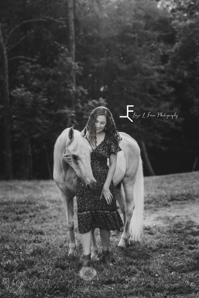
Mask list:
[[[133,200],[135,208],[131,218],[129,232],[132,240],[140,241],[143,232],[143,212],[144,212],[144,175],[142,170],[142,159],[140,156],[136,180],[133,190]]]

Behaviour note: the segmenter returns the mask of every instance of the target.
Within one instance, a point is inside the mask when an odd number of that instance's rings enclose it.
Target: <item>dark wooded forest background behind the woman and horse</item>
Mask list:
[[[82,130],[98,105],[138,142],[145,175],[192,171],[199,152],[199,1],[73,0],[73,57],[68,4],[0,1],[0,179],[52,178],[58,135],[72,125]],[[120,118],[127,105],[141,117]],[[156,117],[142,118],[144,112]],[[5,170],[7,120],[12,176]]]

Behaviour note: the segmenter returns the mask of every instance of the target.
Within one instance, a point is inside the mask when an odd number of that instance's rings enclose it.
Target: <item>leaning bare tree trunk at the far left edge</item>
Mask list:
[[[10,133],[10,99],[8,83],[8,63],[7,52],[3,42],[0,24],[0,48],[3,60],[4,74],[4,139],[5,139],[5,177],[7,180],[12,179],[12,152],[11,152],[11,133]]]

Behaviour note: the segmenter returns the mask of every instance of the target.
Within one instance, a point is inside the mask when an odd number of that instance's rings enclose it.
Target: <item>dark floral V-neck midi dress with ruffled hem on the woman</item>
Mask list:
[[[115,230],[123,226],[122,219],[117,211],[113,181],[109,186],[113,196],[111,204],[107,204],[104,195],[100,198],[109,170],[107,158],[111,153],[118,153],[119,151],[121,151],[121,148],[116,140],[106,133],[104,140],[91,152],[92,174],[97,181],[95,190],[91,192],[85,190],[78,177],[76,198],[78,229],[81,234],[89,232],[92,228]]]

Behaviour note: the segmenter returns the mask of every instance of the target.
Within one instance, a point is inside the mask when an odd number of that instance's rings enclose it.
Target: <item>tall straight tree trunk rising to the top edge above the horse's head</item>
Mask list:
[[[68,3],[68,26],[69,26],[69,54],[72,60],[73,66],[71,70],[72,81],[72,107],[75,109],[76,98],[76,82],[75,82],[75,26],[74,26],[74,3],[73,0],[67,0]]]

